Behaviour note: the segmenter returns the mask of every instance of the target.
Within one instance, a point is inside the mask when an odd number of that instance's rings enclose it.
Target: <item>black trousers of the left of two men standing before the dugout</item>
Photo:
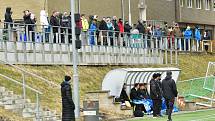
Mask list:
[[[159,116],[161,112],[162,100],[152,99],[153,102],[153,116]]]

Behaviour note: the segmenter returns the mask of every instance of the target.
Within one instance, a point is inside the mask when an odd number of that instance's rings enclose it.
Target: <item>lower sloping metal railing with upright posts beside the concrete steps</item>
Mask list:
[[[24,107],[25,107],[25,101],[26,101],[26,89],[29,89],[29,90],[33,91],[36,94],[36,120],[39,120],[39,114],[40,114],[40,101],[39,101],[39,97],[43,93],[40,92],[40,91],[38,91],[38,90],[36,90],[36,89],[34,89],[34,88],[32,88],[32,87],[30,87],[30,86],[28,86],[28,85],[26,85],[24,80],[21,83],[21,82],[15,80],[15,79],[12,79],[12,78],[4,75],[4,74],[0,74],[0,76],[3,77],[3,78],[5,78],[5,79],[7,79],[7,80],[9,80],[9,81],[11,81],[11,82],[13,82],[13,84],[17,84],[19,86],[22,86],[22,88],[23,88],[22,91],[23,91],[23,99],[24,99],[24,104],[23,105],[24,105]]]

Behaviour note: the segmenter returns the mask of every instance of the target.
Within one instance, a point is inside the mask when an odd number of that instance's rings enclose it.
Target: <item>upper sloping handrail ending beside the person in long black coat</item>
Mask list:
[[[5,63],[5,64],[7,64],[7,65],[10,65],[11,67],[13,67],[13,68],[15,68],[15,69],[17,69],[17,70],[20,70],[20,71],[22,71],[22,72],[24,72],[24,73],[26,73],[26,74],[29,74],[29,75],[31,75],[31,76],[34,76],[34,77],[38,78],[38,79],[41,79],[41,80],[45,81],[45,82],[48,83],[48,84],[51,84],[51,85],[53,85],[53,86],[56,86],[57,88],[60,88],[60,86],[59,86],[58,84],[55,84],[54,82],[51,82],[51,81],[49,81],[49,80],[47,80],[47,79],[45,79],[45,78],[43,78],[43,77],[41,77],[41,76],[38,76],[38,75],[36,75],[36,74],[34,74],[34,73],[31,73],[31,72],[28,72],[28,71],[26,71],[26,70],[24,70],[24,69],[22,69],[22,68],[20,68],[20,67],[18,67],[18,66],[15,66],[15,65],[13,65],[13,64],[8,63],[8,62],[6,62],[6,61],[3,61],[3,60],[0,60],[0,61],[3,62],[3,63]]]

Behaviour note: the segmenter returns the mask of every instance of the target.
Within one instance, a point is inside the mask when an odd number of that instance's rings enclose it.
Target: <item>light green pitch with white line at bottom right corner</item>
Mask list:
[[[215,121],[215,109],[175,114],[173,115],[172,119],[173,121]],[[167,121],[167,116],[156,119],[146,116],[144,118],[131,119],[129,121]]]

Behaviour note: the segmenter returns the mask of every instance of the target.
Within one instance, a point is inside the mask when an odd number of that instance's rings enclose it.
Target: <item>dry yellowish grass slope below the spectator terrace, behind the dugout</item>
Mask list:
[[[207,64],[209,61],[215,61],[213,55],[179,55],[179,65],[172,65],[182,69],[179,80],[190,79],[194,77],[205,76]],[[101,87],[102,79],[105,74],[112,69],[127,68],[127,67],[166,67],[170,65],[141,65],[141,66],[80,66],[79,79],[80,79],[80,95],[81,100],[84,98],[86,91],[99,90]],[[65,74],[72,75],[72,66],[26,66],[19,65],[19,67],[33,72],[57,84],[60,84]],[[21,73],[17,72],[14,68],[6,65],[0,65],[0,73],[13,77],[14,79],[22,81]],[[41,82],[38,79],[26,76],[27,84],[42,91],[44,94],[40,97],[42,105],[47,105],[49,108],[61,111],[61,98],[60,90],[55,89],[50,85]],[[6,86],[10,90],[16,90],[15,93],[21,94],[22,88],[17,87],[0,77],[0,85]],[[35,99],[35,94],[27,90],[27,98]]]

